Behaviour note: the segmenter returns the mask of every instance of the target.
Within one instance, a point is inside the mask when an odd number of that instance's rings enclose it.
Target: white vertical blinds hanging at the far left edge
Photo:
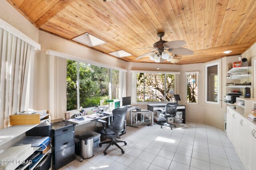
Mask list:
[[[0,27],[0,129],[8,126],[10,115],[24,111],[29,100],[31,58],[34,47]]]

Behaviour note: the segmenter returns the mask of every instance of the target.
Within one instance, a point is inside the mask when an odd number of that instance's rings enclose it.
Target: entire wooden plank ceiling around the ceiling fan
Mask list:
[[[193,55],[178,64],[204,63],[243,53],[256,41],[256,0],[7,0],[38,28],[71,39],[88,32],[107,43],[103,53],[124,50],[129,62],[149,62],[158,32],[184,40]],[[170,63],[163,61],[162,63]]]

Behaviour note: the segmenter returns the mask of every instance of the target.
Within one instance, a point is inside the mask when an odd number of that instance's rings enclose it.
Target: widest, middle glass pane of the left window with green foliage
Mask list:
[[[110,69],[79,63],[80,106],[99,106],[100,100],[108,100]]]

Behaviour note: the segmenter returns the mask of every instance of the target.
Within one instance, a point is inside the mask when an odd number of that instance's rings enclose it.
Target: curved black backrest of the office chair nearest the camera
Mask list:
[[[123,107],[112,110],[114,120],[112,121],[111,125],[118,133],[124,131],[124,121],[126,119],[127,109],[128,107]]]

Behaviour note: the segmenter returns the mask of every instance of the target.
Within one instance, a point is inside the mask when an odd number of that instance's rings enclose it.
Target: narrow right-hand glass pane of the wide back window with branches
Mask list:
[[[174,74],[166,74],[166,101],[174,101]]]

